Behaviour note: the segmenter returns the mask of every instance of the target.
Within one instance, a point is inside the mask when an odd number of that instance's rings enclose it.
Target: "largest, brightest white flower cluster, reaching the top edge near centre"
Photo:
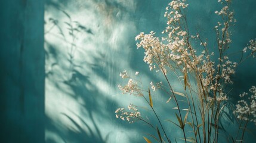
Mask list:
[[[155,69],[156,65],[163,73],[167,73],[166,66],[170,66],[170,61],[175,61],[181,65],[185,55],[190,55],[184,46],[186,45],[187,32],[184,27],[178,26],[181,21],[181,9],[186,8],[187,4],[184,1],[174,0],[166,7],[165,17],[168,18],[168,27],[162,33],[166,33],[168,38],[162,38],[162,41],[167,40],[164,44],[155,37],[155,32],[150,32],[144,35],[143,32],[136,36],[135,40],[139,40],[137,47],[141,46],[145,50],[144,62],[149,64],[150,70]],[[166,42],[165,42],[166,43]],[[188,65],[188,67],[190,67]]]

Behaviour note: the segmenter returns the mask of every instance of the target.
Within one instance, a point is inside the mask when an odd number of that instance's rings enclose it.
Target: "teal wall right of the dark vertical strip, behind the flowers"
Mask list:
[[[114,112],[129,103],[146,106],[141,98],[122,95],[118,90],[118,83],[122,83],[119,78],[121,71],[126,69],[131,74],[140,71],[143,82],[147,83],[161,80],[149,72],[143,62],[144,51],[137,50],[134,38],[138,33],[149,33],[150,30],[160,35],[165,27],[163,15],[167,4],[168,1],[164,0],[46,2],[46,142],[143,142],[144,132],[156,135],[143,123],[129,124],[116,119]],[[214,41],[212,27],[217,22],[214,11],[220,5],[217,1],[202,0],[189,1],[189,5],[191,31]],[[242,49],[249,39],[256,37],[256,13],[252,5],[255,5],[254,1],[235,1],[233,4],[238,15],[233,34],[234,51]],[[214,47],[212,41],[210,44]],[[249,61],[252,69],[256,69],[254,63]],[[244,65],[237,75],[242,78],[248,71],[251,69]],[[251,73],[250,79],[253,77],[255,74]],[[255,81],[246,82],[246,87],[239,88],[241,82],[246,81],[242,78],[235,83],[232,94],[235,98],[255,84]],[[163,103],[166,100],[155,97],[155,106],[165,108]],[[158,110],[161,119],[175,120],[175,115],[162,108]],[[181,136],[181,130],[175,125],[165,125],[168,133]],[[230,130],[237,128],[229,122],[224,125]]]

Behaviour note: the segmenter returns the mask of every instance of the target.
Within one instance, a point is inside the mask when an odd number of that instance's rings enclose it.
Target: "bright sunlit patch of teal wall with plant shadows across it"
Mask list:
[[[114,114],[128,104],[116,97],[116,78],[129,67],[135,8],[134,1],[121,0],[45,6],[46,141],[129,142],[136,134]]]

